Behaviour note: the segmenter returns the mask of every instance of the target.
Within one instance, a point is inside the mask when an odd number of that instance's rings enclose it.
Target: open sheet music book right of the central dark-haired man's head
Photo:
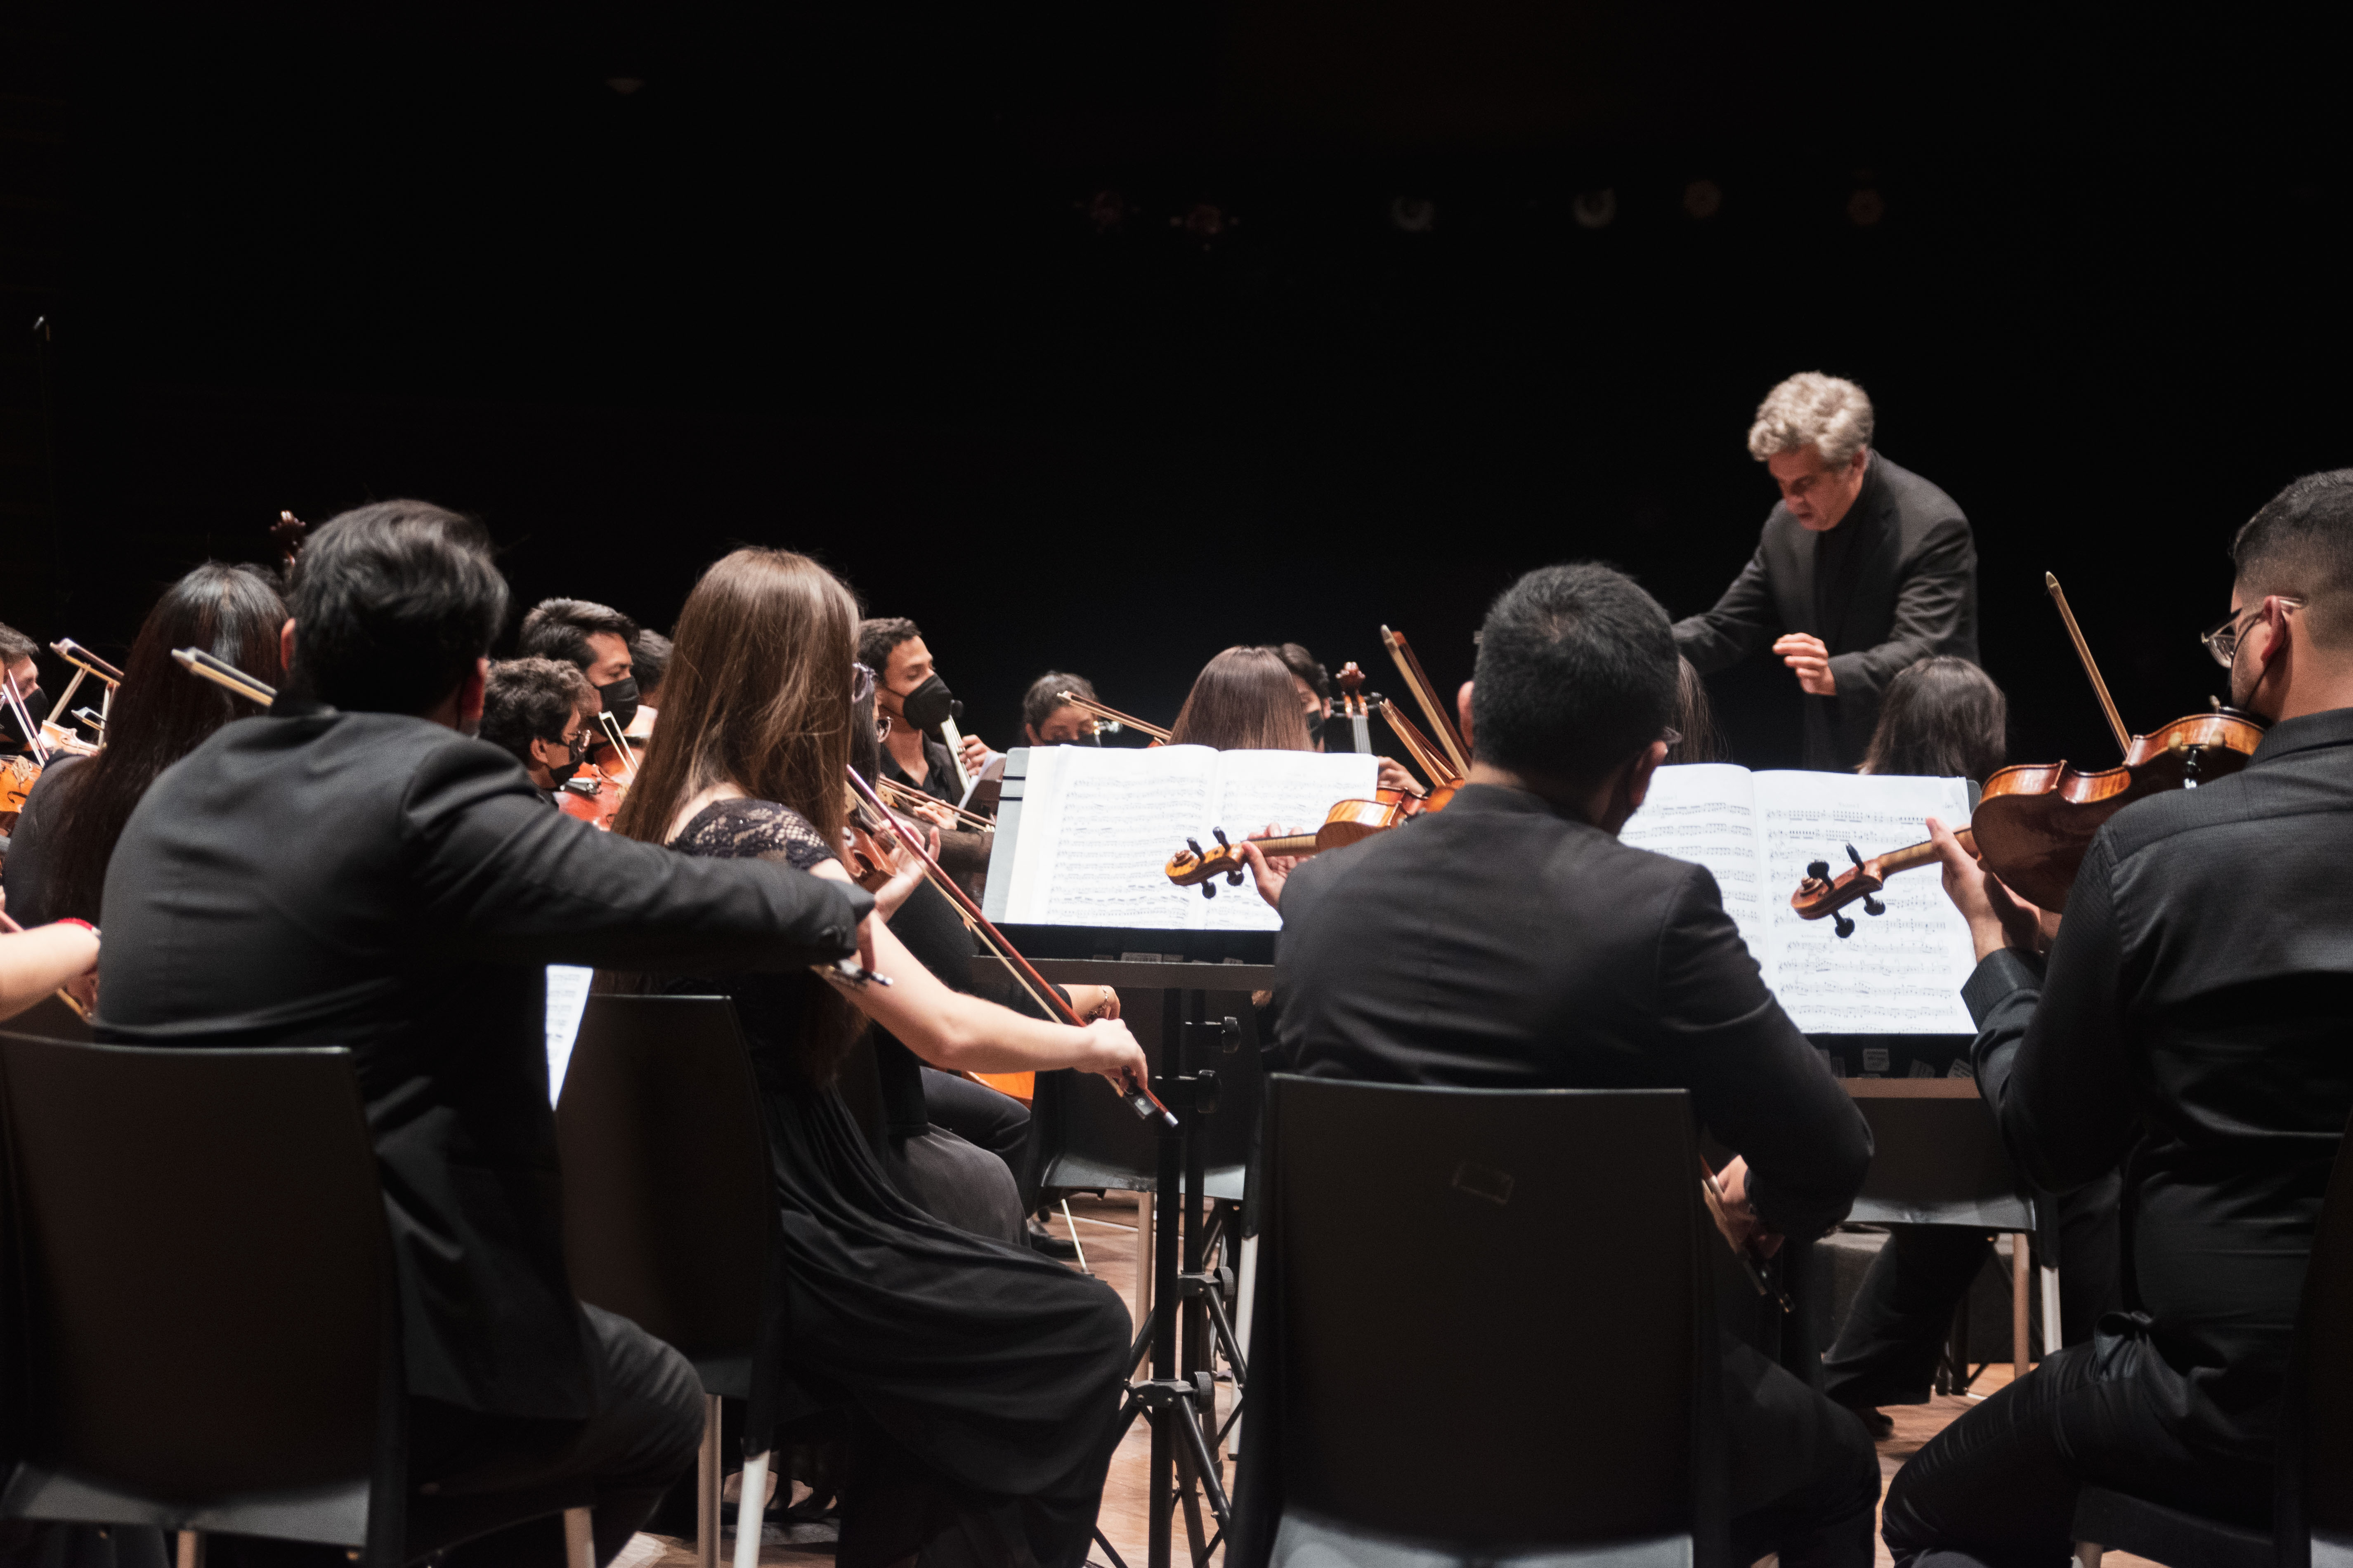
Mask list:
[[[1835,877],[1852,865],[1847,844],[1864,858],[1918,844],[1929,816],[1967,823],[1969,780],[1694,762],[1659,769],[1619,837],[1715,875],[1765,985],[1807,1034],[1974,1034],[1960,987],[1977,952],[1934,867],[1889,879],[1887,914],[1845,910],[1845,940],[1788,907],[1807,860],[1828,860]]]

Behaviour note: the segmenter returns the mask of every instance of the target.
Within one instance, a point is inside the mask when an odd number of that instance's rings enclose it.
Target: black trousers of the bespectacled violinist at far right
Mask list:
[[[1897,1568],[2061,1568],[2087,1483],[2264,1523],[2271,1467],[2186,1448],[2167,1432],[2179,1375],[2125,1314],[1958,1422],[1887,1488]]]

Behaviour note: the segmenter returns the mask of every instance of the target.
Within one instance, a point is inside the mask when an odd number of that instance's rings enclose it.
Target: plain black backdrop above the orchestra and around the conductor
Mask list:
[[[1160,719],[1231,642],[1395,689],[1384,621],[1452,689],[1534,564],[1704,609],[1755,400],[1828,369],[1977,524],[2014,755],[2108,762],[2042,571],[2153,729],[2221,684],[2231,529],[2353,463],[2341,82],[2252,9],[1892,12],[92,19],[0,616],[115,651],[278,508],[416,494],[654,625],[816,552],[998,745],[1047,665]],[[1777,665],[1715,691],[1793,759]]]

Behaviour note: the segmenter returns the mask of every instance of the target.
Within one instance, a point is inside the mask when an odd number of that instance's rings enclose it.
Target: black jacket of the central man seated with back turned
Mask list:
[[[1765,990],[1704,865],[1522,790],[1315,856],[1282,891],[1292,1072],[1464,1088],[1687,1088],[1772,1229],[1845,1218],[1871,1128]]]

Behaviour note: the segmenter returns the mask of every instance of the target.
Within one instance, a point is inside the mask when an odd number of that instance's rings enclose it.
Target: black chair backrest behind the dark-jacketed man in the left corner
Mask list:
[[[341,1048],[0,1034],[24,1462],[0,1514],[398,1561],[400,1338]]]

